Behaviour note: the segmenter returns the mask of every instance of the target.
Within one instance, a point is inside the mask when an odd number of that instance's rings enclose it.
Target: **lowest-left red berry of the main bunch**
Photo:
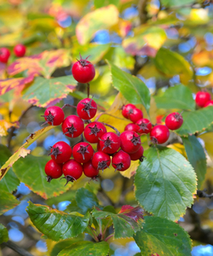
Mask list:
[[[55,163],[54,160],[49,160],[44,167],[44,171],[47,174],[47,181],[50,182],[53,178],[60,177],[62,172],[62,165]]]

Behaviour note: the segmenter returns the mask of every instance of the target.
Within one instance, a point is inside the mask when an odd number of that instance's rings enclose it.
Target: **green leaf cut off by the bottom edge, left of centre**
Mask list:
[[[58,256],[105,256],[109,252],[107,241],[78,241],[62,250]]]

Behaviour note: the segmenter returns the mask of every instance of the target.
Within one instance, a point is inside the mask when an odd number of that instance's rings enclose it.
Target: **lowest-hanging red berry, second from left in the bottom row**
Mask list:
[[[83,167],[76,160],[68,160],[62,167],[62,171],[66,178],[66,184],[77,180],[83,174]],[[66,185],[65,184],[65,185]]]

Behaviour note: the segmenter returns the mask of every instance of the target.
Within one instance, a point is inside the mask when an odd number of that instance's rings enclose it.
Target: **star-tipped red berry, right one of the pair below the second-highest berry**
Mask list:
[[[89,143],[98,143],[99,138],[107,132],[105,125],[100,122],[92,122],[86,125],[84,129],[84,137]]]

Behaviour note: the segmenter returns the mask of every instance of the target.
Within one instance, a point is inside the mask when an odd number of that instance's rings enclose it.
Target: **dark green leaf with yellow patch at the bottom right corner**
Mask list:
[[[146,216],[143,229],[136,233],[134,239],[141,255],[191,255],[192,242],[187,232],[165,218]]]

